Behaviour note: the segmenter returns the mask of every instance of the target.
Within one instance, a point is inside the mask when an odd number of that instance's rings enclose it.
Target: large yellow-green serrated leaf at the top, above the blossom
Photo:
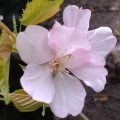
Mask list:
[[[56,14],[62,3],[63,0],[32,0],[23,10],[20,22],[26,26],[41,23]]]

